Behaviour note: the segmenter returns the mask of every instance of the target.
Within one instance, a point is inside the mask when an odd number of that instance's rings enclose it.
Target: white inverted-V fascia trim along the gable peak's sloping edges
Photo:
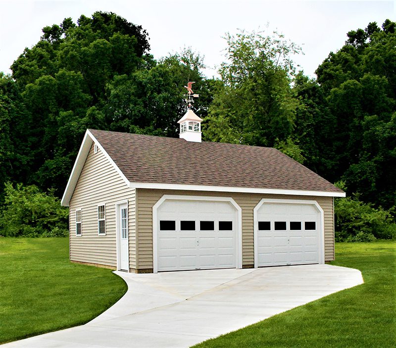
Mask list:
[[[104,157],[110,162],[110,164],[114,167],[118,174],[122,177],[125,183],[129,186],[130,182],[126,178],[126,176],[121,172],[115,162],[111,159],[108,153],[103,149],[103,146],[100,145],[99,141],[95,138],[95,136],[87,130],[84,135],[83,142],[81,143],[80,150],[78,151],[76,161],[74,162],[73,170],[71,171],[69,181],[67,182],[65,192],[63,193],[62,200],[60,201],[60,205],[64,207],[68,207],[70,203],[71,196],[74,192],[74,188],[76,187],[78,178],[80,177],[81,171],[83,170],[85,161],[87,159],[88,153],[91,149],[92,143],[98,145],[98,148],[103,153]]]

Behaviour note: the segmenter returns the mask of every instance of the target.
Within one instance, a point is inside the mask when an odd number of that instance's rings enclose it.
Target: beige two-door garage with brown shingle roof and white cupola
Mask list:
[[[334,260],[345,193],[274,148],[87,130],[65,189],[70,260],[130,272]]]

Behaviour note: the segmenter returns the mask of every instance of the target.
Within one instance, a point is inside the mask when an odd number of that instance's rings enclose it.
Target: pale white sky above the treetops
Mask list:
[[[277,30],[302,46],[295,57],[306,75],[330,51],[342,47],[347,32],[396,20],[396,0],[0,0],[0,71],[10,73],[25,47],[36,44],[47,25],[95,11],[114,12],[148,31],[154,58],[184,46],[204,55],[208,77],[224,59],[226,32]]]

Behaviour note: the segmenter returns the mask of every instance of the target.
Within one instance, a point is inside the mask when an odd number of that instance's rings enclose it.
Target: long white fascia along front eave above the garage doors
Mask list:
[[[320,196],[320,197],[345,197],[346,196],[345,192],[281,190],[281,189],[276,189],[276,188],[255,188],[255,187],[166,184],[166,183],[156,183],[156,182],[130,182],[129,187],[130,188],[163,189],[163,190],[266,193],[266,194],[295,195],[295,196]]]

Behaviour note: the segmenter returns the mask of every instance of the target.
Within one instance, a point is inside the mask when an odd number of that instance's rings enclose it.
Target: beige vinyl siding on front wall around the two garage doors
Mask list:
[[[155,189],[138,189],[137,191],[137,236],[139,241],[137,246],[138,269],[153,268],[152,207],[165,194],[233,198],[242,209],[242,264],[244,267],[254,265],[253,209],[262,198],[317,201],[324,211],[325,261],[334,260],[334,215],[332,197]]]

